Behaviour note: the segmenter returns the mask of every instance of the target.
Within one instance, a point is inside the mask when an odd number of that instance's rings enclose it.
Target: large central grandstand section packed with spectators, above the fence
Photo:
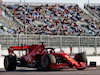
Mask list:
[[[23,5],[3,3],[1,6],[10,12],[10,16],[12,15],[18,22],[21,22],[22,26],[19,25],[15,28],[16,25],[13,25],[15,27],[11,28],[18,34],[99,35],[97,27],[99,23],[87,15],[77,4]],[[95,26],[95,29],[92,29],[91,24]]]

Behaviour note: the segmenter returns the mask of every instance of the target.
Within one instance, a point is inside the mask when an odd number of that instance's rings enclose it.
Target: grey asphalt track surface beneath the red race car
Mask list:
[[[100,67],[85,70],[62,69],[51,71],[37,71],[32,68],[17,68],[16,71],[5,71],[0,68],[0,75],[100,75]]]

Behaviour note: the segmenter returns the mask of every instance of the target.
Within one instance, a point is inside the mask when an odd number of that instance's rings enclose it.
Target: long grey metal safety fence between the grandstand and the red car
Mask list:
[[[82,50],[91,54],[99,54],[100,37],[99,36],[60,36],[60,35],[0,35],[0,44],[3,48],[10,46],[41,44],[44,42],[46,47],[65,49],[70,46],[77,48],[78,52]],[[74,51],[75,52],[75,51]]]

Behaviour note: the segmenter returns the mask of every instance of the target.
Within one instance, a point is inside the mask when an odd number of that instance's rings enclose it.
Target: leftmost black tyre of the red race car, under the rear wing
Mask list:
[[[14,71],[16,69],[16,57],[9,55],[4,58],[4,68],[7,71]]]

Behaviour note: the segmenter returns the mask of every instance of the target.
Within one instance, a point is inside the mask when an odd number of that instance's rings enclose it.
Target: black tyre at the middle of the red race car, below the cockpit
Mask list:
[[[46,54],[41,58],[41,67],[42,70],[50,69],[51,63],[56,63],[56,58],[52,54]]]

